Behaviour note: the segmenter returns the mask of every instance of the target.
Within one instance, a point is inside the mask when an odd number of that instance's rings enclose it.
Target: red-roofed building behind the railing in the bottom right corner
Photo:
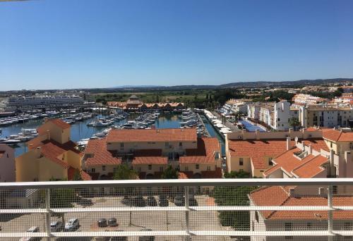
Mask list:
[[[328,211],[316,211],[314,206],[328,206],[325,194],[293,194],[291,187],[262,187],[249,194],[251,206],[282,206],[292,210],[250,211],[250,230],[262,231],[304,231],[328,230]],[[304,211],[295,210],[299,206],[313,206]],[[352,195],[333,195],[333,206],[353,206]],[[333,230],[352,230],[353,211],[333,211]],[[352,233],[352,231],[350,231]],[[251,240],[328,240],[328,237],[265,237],[252,236]],[[350,240],[342,237],[342,240]]]

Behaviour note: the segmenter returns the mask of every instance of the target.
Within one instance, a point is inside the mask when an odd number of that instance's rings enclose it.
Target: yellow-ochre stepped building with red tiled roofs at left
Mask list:
[[[16,158],[16,181],[72,180],[76,171],[83,179],[90,177],[81,171],[82,154],[70,140],[70,125],[60,119],[50,119],[30,140],[28,152]]]

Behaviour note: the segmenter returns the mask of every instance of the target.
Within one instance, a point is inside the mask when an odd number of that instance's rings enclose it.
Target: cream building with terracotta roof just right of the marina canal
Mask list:
[[[287,138],[288,137],[288,138]],[[273,167],[273,159],[287,152],[299,140],[316,140],[322,132],[306,130],[288,132],[233,132],[226,137],[227,171],[246,171],[254,177]]]

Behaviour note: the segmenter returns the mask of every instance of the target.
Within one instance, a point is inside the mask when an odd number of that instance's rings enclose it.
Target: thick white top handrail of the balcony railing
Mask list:
[[[353,178],[218,178],[157,180],[87,180],[0,183],[1,189],[85,187],[186,187],[186,186],[353,185]]]

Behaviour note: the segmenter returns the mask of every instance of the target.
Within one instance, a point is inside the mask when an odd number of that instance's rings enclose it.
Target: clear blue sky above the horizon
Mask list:
[[[353,77],[353,1],[0,2],[0,89]]]

